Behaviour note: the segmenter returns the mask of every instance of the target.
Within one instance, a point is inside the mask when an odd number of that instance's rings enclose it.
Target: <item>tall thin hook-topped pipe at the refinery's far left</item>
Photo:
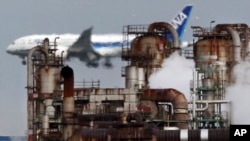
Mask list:
[[[36,46],[34,48],[32,48],[29,52],[29,55],[27,57],[27,91],[28,91],[28,104],[27,104],[27,109],[28,109],[28,140],[32,140],[33,138],[33,101],[30,99],[30,97],[33,97],[33,88],[34,88],[34,77],[33,76],[33,70],[32,70],[32,55],[35,51],[41,51],[42,53],[44,53],[45,55],[45,66],[47,66],[48,64],[48,57],[49,57],[49,53],[47,51],[47,49],[45,49],[44,47],[41,46]]]

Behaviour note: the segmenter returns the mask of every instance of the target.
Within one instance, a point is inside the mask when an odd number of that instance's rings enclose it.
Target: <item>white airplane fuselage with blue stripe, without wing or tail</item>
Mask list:
[[[102,37],[111,37],[108,40],[101,39]],[[59,37],[55,42],[55,38]],[[61,34],[61,35],[31,35],[26,36],[20,39],[17,39],[15,42],[10,44],[7,48],[7,53],[12,55],[17,55],[20,57],[26,57],[33,47],[41,45],[45,38],[49,38],[52,44],[51,47],[56,43],[56,48],[59,52],[66,52],[68,48],[73,45],[74,42],[79,38],[79,35],[76,34]],[[104,35],[93,35],[92,37],[92,47],[94,51],[99,53],[102,57],[116,57],[121,54],[122,46],[122,37],[121,35],[115,34],[104,34]]]

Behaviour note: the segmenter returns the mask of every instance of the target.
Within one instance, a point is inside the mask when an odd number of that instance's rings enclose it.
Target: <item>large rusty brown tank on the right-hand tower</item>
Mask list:
[[[234,60],[233,42],[226,39],[203,39],[194,45],[194,58],[196,68],[206,71],[213,64],[218,69],[223,68],[224,80],[230,81],[230,63]],[[229,70],[229,71],[226,71]],[[220,74],[213,78],[221,79]]]

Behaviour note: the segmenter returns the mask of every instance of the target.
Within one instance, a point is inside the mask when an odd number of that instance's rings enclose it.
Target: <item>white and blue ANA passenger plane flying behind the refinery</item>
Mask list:
[[[170,22],[177,30],[181,42],[181,47],[189,45],[188,42],[183,42],[182,37],[191,15],[193,5],[186,5]],[[49,41],[56,39],[56,48],[58,55],[64,51],[63,57],[70,59],[73,57],[79,58],[85,62],[87,66],[97,67],[98,61],[105,58],[105,67],[112,67],[110,57],[119,57],[122,51],[122,34],[99,34],[92,35],[92,27],[82,32],[81,35],[76,34],[51,34],[51,35],[29,35],[16,39],[7,48],[7,53],[17,55],[23,58],[22,63],[26,64],[26,59],[29,50],[43,42],[45,38]]]

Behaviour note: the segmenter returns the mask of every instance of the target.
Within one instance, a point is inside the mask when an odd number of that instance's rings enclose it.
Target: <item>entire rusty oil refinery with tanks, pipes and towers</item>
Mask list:
[[[74,87],[74,68],[64,64],[64,52],[55,55],[56,39],[45,39],[27,60],[28,140],[228,141],[225,89],[235,81],[233,67],[248,57],[250,30],[242,23],[192,29],[193,47],[183,50],[169,23],[124,26],[124,88]],[[195,62],[191,100],[179,88],[149,86],[176,52]]]

